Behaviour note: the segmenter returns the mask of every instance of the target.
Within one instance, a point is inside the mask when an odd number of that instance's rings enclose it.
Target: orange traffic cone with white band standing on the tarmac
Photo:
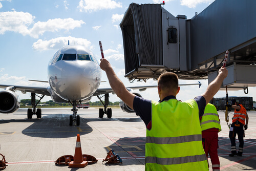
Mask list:
[[[71,161],[69,163],[69,167],[79,167],[79,168],[81,168],[81,167],[85,167],[87,165],[88,165],[88,162],[83,161],[83,158],[82,158],[82,148],[81,148],[81,142],[80,142],[80,135],[77,134],[74,161]]]

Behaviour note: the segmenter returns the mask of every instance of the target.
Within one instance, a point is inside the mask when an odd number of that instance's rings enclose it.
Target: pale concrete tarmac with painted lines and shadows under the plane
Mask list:
[[[229,129],[224,111],[218,111],[222,131],[219,133],[221,170],[256,170],[256,112],[248,111],[243,156],[229,157]],[[135,113],[112,109],[112,118],[98,117],[98,109],[79,109],[80,125],[69,126],[71,108],[42,108],[42,118],[27,119],[27,109],[12,114],[0,114],[0,154],[5,156],[6,170],[144,170],[144,122]],[[233,111],[229,113],[229,123]],[[76,138],[80,134],[82,154],[98,159],[84,168],[55,165],[59,157],[75,154]],[[237,140],[237,149],[239,142]],[[110,149],[122,163],[102,162]],[[1,156],[0,156],[1,157]],[[0,158],[1,160],[1,158]],[[210,158],[209,170],[211,169]]]

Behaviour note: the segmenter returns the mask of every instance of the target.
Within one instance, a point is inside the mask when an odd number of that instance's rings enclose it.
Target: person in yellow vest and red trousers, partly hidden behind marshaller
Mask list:
[[[200,124],[202,127],[202,141],[206,157],[208,158],[209,153],[212,170],[220,170],[218,132],[221,131],[221,122],[215,105],[208,103],[205,106],[204,114],[200,118]]]

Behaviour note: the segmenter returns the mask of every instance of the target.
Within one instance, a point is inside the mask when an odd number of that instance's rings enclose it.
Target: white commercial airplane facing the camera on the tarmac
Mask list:
[[[0,91],[0,113],[13,113],[20,105],[19,97],[15,91],[21,91],[26,94],[31,93],[32,108],[28,109],[28,119],[33,115],[41,118],[41,109],[37,108],[38,103],[44,96],[51,96],[56,103],[70,103],[73,106],[73,115],[70,115],[70,125],[76,121],[76,125],[80,124],[80,117],[76,115],[76,105],[82,102],[88,102],[93,96],[97,96],[104,106],[104,109],[99,109],[99,117],[104,114],[108,118],[112,117],[112,110],[108,108],[109,93],[114,93],[111,88],[99,88],[101,82],[101,69],[97,59],[92,52],[80,45],[68,45],[59,49],[48,64],[48,80],[40,82],[49,82],[49,87],[25,87],[14,85],[0,84],[0,88],[5,90]],[[38,81],[38,80],[31,80]],[[201,83],[180,84],[179,86],[199,85]],[[157,86],[130,87],[127,90],[137,96],[141,95],[133,92],[133,89],[144,91],[147,88],[156,88]],[[36,94],[40,94],[38,96]],[[104,103],[101,100],[103,95]],[[40,100],[36,103],[35,97]],[[124,102],[120,101],[120,107],[125,112],[134,112]]]

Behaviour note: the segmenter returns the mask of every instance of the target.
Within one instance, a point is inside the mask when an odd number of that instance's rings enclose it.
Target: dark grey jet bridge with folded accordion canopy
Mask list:
[[[211,82],[229,50],[223,88],[255,87],[255,7],[253,0],[216,0],[187,19],[161,4],[130,4],[120,23],[125,77],[146,81],[175,72],[180,79]]]

